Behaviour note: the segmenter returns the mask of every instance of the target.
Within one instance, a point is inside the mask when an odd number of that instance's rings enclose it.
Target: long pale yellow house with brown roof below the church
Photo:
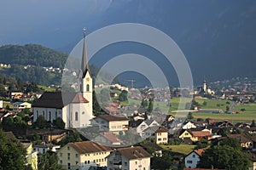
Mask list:
[[[88,170],[107,167],[107,156],[112,149],[92,141],[68,143],[57,151],[59,164],[66,169]]]

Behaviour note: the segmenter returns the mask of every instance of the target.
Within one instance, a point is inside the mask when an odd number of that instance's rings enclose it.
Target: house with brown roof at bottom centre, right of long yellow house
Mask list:
[[[108,170],[149,170],[151,155],[141,146],[119,148],[107,157]]]

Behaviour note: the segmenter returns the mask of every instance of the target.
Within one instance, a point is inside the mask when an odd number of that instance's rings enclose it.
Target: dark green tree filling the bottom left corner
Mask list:
[[[25,169],[26,150],[18,141],[7,139],[0,130],[0,169]]]

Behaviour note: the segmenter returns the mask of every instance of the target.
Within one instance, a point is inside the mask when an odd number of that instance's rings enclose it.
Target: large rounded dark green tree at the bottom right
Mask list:
[[[249,160],[241,150],[235,150],[229,145],[218,145],[202,153],[199,167],[209,167],[240,170],[248,169]]]

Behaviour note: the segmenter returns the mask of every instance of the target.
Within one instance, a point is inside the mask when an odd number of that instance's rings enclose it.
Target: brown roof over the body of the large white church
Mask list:
[[[32,105],[32,107],[46,107],[62,109],[64,105],[70,103],[89,103],[87,99],[84,99],[82,94],[66,93],[63,101],[61,92],[44,92],[42,96]]]

